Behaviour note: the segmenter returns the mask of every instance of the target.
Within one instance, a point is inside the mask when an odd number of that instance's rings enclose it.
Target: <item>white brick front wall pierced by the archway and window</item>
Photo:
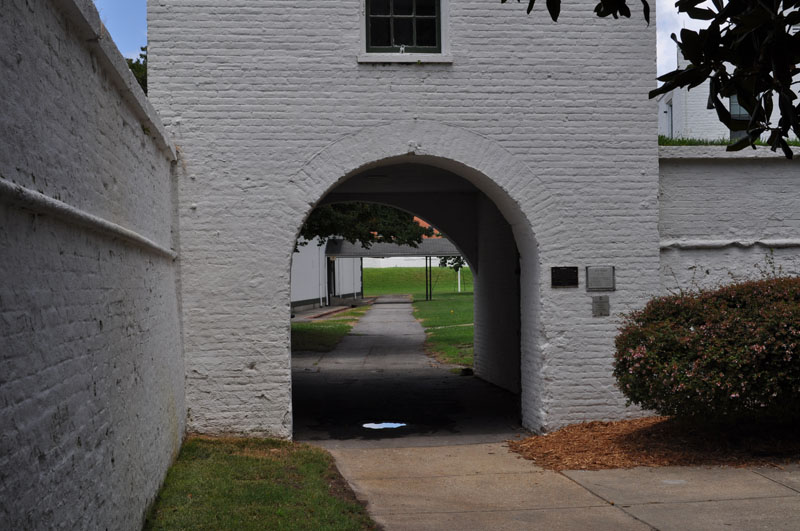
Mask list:
[[[366,65],[358,0],[150,3],[150,95],[185,163],[190,426],[291,434],[297,230],[348,172],[410,141],[479,169],[505,194],[501,210],[533,224],[527,424],[624,414],[609,370],[615,319],[592,318],[583,289],[553,291],[548,276],[616,265],[615,314],[659,290],[655,24],[598,19],[593,5],[554,24],[516,4],[454,1],[452,65]]]

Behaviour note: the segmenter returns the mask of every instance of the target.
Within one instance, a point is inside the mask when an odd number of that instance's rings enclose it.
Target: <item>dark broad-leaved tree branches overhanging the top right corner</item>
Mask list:
[[[528,13],[534,2],[529,0]],[[647,0],[641,2],[649,24],[650,6]],[[550,17],[558,20],[561,0],[546,0],[546,5]],[[709,80],[708,108],[715,109],[731,130],[747,132],[728,146],[729,151],[755,149],[755,141],[768,133],[772,151],[780,148],[792,158],[786,142],[789,131],[800,137],[800,103],[793,90],[800,83],[800,0],[677,0],[675,6],[691,19],[707,21],[708,27],[683,29],[680,40],[672,34],[689,64],[659,77],[664,84],[650,97]],[[601,0],[594,12],[599,17],[631,16],[626,0]],[[737,97],[749,120],[731,118],[723,101],[731,96]]]

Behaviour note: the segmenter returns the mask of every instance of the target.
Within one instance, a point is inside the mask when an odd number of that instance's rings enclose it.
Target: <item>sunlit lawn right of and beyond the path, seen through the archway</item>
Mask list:
[[[474,337],[474,296],[472,272],[461,271],[458,293],[452,269],[434,267],[433,300],[425,300],[425,268],[387,267],[364,269],[364,292],[367,296],[410,294],[414,298],[414,316],[425,327],[426,351],[445,363],[472,367]]]

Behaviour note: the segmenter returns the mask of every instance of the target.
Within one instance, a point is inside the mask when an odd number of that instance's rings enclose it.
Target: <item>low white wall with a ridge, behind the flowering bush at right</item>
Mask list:
[[[723,150],[662,148],[665,290],[800,274],[797,162],[766,149],[737,156]]]

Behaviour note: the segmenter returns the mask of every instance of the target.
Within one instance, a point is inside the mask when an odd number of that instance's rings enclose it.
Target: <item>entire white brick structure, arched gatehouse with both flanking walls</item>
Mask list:
[[[324,202],[447,234],[476,373],[535,430],[638,414],[620,312],[770,250],[800,271],[796,163],[659,150],[655,24],[418,2],[402,54],[362,0],[150,2],[150,100],[90,0],[3,4],[0,528],[137,529],[187,430],[291,437],[292,257]]]

